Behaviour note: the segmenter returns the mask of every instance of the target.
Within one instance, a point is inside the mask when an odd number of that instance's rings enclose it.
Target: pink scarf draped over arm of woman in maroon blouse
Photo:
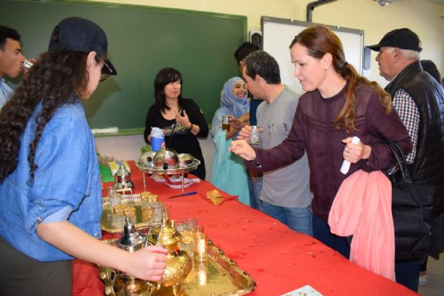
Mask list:
[[[353,236],[350,261],[395,281],[395,231],[391,183],[381,171],[362,170],[345,179],[328,217],[330,231]]]

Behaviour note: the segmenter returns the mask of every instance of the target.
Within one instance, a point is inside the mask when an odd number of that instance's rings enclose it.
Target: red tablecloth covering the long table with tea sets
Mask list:
[[[131,166],[135,193],[144,191],[142,173],[133,163]],[[167,199],[180,194],[180,189],[154,182],[148,175],[146,181],[146,191],[159,195],[169,218],[197,218],[214,244],[255,279],[257,288],[250,295],[282,295],[305,285],[323,295],[417,295],[237,200],[214,206],[199,194]],[[201,181],[185,192],[205,195],[212,189],[212,184]],[[103,295],[104,286],[95,265],[75,260],[73,266],[73,295]]]

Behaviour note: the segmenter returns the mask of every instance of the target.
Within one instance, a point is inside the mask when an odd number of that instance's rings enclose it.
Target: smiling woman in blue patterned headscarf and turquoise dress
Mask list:
[[[237,127],[246,122],[250,110],[247,94],[246,84],[242,78],[230,78],[223,85],[221,107],[216,110],[212,121],[216,153],[214,153],[211,183],[227,193],[239,195],[239,201],[249,205],[250,195],[244,161],[241,157],[228,152],[228,147],[239,133],[239,129],[230,125],[229,131],[222,130],[222,116],[230,116],[232,122],[237,121]]]

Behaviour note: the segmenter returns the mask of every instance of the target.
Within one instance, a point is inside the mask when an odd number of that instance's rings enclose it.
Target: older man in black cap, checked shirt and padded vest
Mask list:
[[[379,73],[390,81],[386,91],[409,131],[413,150],[407,155],[408,170],[414,182],[435,186],[434,244],[432,255],[438,258],[444,250],[444,94],[441,85],[422,70],[422,45],[416,33],[408,28],[388,32],[379,44],[368,46],[378,51]],[[398,283],[418,290],[417,260],[397,261]]]

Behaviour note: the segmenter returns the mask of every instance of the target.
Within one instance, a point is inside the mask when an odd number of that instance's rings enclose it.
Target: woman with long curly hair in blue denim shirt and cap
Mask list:
[[[116,75],[107,51],[99,26],[63,19],[0,113],[0,295],[71,295],[74,257],[162,279],[162,247],[130,253],[97,239],[99,164],[81,101]]]

